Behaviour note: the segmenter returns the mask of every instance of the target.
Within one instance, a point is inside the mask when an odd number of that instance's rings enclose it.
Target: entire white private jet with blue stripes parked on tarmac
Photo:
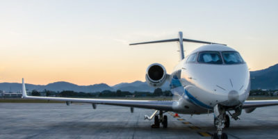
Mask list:
[[[172,74],[167,74],[161,64],[149,65],[145,77],[147,83],[155,88],[169,81],[170,90],[174,95],[172,101],[33,97],[26,94],[24,79],[22,79],[22,98],[66,101],[67,105],[72,102],[83,102],[92,104],[93,108],[96,108],[97,104],[128,106],[131,107],[131,113],[134,107],[150,108],[155,111],[150,117],[146,115],[145,119],[152,120],[154,117],[152,127],[159,127],[161,123],[164,128],[167,128],[167,116],[163,116],[163,113],[167,111],[189,115],[214,113],[214,124],[217,127],[217,132],[212,135],[214,139],[228,138],[226,133],[222,133],[222,129],[229,127],[229,116],[238,120],[243,109],[246,113],[251,113],[257,107],[278,105],[278,100],[246,100],[250,92],[250,72],[238,51],[231,47],[225,44],[189,40],[183,38],[182,32],[179,32],[179,38],[136,44],[158,42],[179,42],[181,61]],[[185,58],[183,42],[206,45],[195,49]]]

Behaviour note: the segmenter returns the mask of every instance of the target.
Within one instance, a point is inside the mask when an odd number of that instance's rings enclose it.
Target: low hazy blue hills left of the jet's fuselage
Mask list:
[[[42,91],[44,89],[61,92],[63,90],[73,90],[76,92],[101,92],[103,90],[122,90],[129,92],[154,92],[155,88],[150,87],[147,82],[134,81],[132,83],[119,83],[117,85],[109,86],[105,83],[95,84],[95,85],[76,85],[73,83],[68,83],[65,81],[58,81],[55,83],[49,83],[47,85],[33,85],[26,83],[27,90],[38,90]],[[162,87],[162,90],[169,90],[169,83],[166,82]],[[5,92],[21,92],[22,83],[0,83],[0,90]]]

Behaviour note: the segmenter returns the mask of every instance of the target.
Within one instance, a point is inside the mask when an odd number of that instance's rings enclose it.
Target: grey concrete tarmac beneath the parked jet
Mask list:
[[[168,128],[152,129],[144,120],[154,110],[90,104],[0,103],[0,138],[211,138],[213,114],[167,112]],[[224,132],[231,138],[278,138],[278,106],[243,111]]]

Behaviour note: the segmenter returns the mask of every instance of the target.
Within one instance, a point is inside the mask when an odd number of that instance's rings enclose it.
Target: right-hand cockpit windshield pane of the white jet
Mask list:
[[[243,58],[236,51],[223,51],[222,56],[225,64],[240,64],[243,63]]]

